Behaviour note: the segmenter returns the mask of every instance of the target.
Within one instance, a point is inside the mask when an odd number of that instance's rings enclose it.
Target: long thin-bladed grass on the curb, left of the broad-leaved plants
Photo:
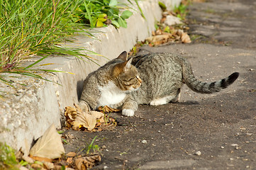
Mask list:
[[[79,30],[79,24],[71,20],[77,6],[71,0],[0,0],[0,81],[11,85],[6,79],[10,73],[43,79],[31,67],[48,55],[87,57],[76,49],[57,46]],[[21,67],[33,55],[42,58]]]

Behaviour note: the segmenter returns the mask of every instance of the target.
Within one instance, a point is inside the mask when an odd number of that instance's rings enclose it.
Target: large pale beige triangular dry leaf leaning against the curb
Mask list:
[[[65,150],[62,145],[61,135],[57,133],[55,125],[53,124],[30,149],[31,156],[46,157],[49,159],[59,158],[61,154],[64,153]]]

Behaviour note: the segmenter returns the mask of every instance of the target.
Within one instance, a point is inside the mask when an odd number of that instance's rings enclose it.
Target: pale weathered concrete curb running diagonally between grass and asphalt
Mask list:
[[[167,1],[167,0],[165,0]],[[169,0],[167,6],[178,5],[181,0]],[[170,3],[172,2],[172,3]],[[155,29],[155,21],[162,17],[157,0],[140,1],[146,20],[138,12],[128,19],[128,28],[116,29],[113,26],[99,28],[101,33],[95,33],[96,39],[89,39],[85,35],[77,37],[76,42],[68,46],[84,47],[87,50],[104,55],[108,59],[117,57],[123,50],[129,51],[137,41],[145,40]],[[84,51],[87,52],[87,51]],[[91,55],[102,65],[108,60],[104,57]],[[73,106],[78,102],[83,80],[99,66],[94,62],[83,62],[76,57],[49,57],[40,64],[55,63],[43,67],[44,69],[72,72],[73,74],[48,74],[50,80],[62,86],[38,79],[17,79],[29,85],[13,89],[0,86],[0,90],[9,91],[0,101],[0,141],[6,142],[14,149],[22,148],[28,154],[30,144],[37,139],[53,123],[61,127],[61,119],[65,106]],[[57,67],[57,68],[56,68]]]

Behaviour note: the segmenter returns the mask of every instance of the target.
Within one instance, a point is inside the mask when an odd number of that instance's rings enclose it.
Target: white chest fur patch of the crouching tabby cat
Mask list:
[[[98,86],[101,91],[101,97],[99,98],[99,106],[113,106],[123,101],[126,97],[126,93],[121,91],[116,84],[109,82],[106,86]]]

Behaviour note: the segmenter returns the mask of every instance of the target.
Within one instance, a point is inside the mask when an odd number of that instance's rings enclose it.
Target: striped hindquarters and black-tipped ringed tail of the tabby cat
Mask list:
[[[184,57],[170,53],[140,55],[133,58],[132,64],[137,67],[143,81],[140,89],[132,94],[138,104],[160,105],[179,101],[183,83],[197,93],[212,94],[226,89],[239,76],[234,72],[220,81],[202,82],[194,77],[191,64]]]

